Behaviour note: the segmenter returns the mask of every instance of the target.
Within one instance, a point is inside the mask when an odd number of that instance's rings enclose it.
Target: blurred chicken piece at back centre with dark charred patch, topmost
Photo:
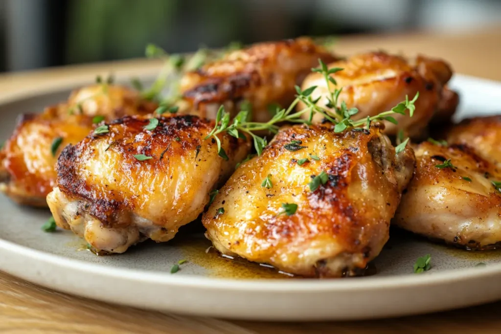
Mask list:
[[[252,103],[254,121],[266,122],[272,116],[268,106],[292,103],[294,86],[318,65],[319,58],[335,60],[309,38],[260,43],[233,51],[184,75],[181,109],[213,119],[221,104],[234,116],[239,103],[246,100]]]

